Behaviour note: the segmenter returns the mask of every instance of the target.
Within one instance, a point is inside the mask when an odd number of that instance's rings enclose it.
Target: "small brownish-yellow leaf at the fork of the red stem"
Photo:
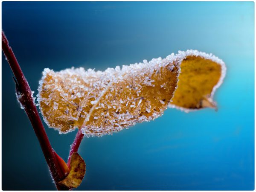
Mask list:
[[[70,160],[70,172],[63,180],[58,183],[67,187],[78,187],[85,174],[85,163],[78,153],[73,153]]]

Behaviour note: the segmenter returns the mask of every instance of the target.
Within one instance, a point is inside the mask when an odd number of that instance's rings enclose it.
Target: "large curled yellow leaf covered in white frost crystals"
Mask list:
[[[223,61],[193,50],[122,70],[45,69],[38,100],[50,127],[61,133],[82,128],[87,137],[102,136],[155,119],[168,106],[214,107],[212,96],[224,75]]]

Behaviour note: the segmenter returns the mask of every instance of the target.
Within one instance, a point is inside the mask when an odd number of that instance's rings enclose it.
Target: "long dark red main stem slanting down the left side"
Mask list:
[[[6,56],[6,60],[8,61],[12,72],[17,79],[16,83],[16,91],[18,95],[18,99],[26,111],[27,116],[32,124],[32,127],[35,131],[35,134],[38,138],[38,141],[41,145],[41,149],[44,153],[45,160],[49,166],[49,170],[51,175],[55,181],[56,187],[58,190],[69,190],[69,188],[65,186],[59,185],[57,182],[62,180],[65,175],[62,172],[61,166],[58,163],[58,160],[55,157],[54,150],[49,142],[47,134],[44,129],[44,125],[40,119],[39,113],[35,106],[35,102],[33,100],[32,91],[29,87],[28,81],[26,80],[20,65],[12,51],[12,48],[9,46],[9,42],[2,30],[2,49]],[[39,177],[38,177],[39,178]]]

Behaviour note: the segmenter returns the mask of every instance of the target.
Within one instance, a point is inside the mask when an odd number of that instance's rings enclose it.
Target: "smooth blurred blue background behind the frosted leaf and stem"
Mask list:
[[[2,2],[2,27],[32,90],[45,67],[107,67],[212,52],[227,65],[218,112],[168,109],[113,136],[85,138],[79,190],[254,189],[253,2]],[[2,189],[55,189],[2,53]],[[46,131],[67,159],[76,131]]]

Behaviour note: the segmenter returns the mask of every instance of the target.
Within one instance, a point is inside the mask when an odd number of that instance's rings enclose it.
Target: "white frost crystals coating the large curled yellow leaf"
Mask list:
[[[221,73],[221,78],[218,81],[218,84],[215,85],[215,87],[212,90],[211,93],[211,98],[213,97],[213,94],[215,92],[215,90],[221,85],[224,76],[226,74],[226,67],[224,62],[215,57],[212,54],[206,54],[204,52],[198,52],[196,50],[187,50],[186,52],[181,52],[179,51],[178,54],[174,54],[172,53],[171,55],[168,55],[166,58],[162,59],[162,58],[157,58],[157,59],[152,59],[151,61],[147,61],[147,60],[143,60],[143,63],[139,63],[139,64],[130,64],[129,66],[122,66],[122,69],[117,66],[115,69],[113,68],[108,68],[107,70],[105,70],[104,72],[102,71],[94,71],[92,69],[88,69],[87,71],[84,70],[84,68],[77,68],[75,69],[74,67],[72,67],[71,69],[66,69],[66,70],[62,70],[60,72],[58,72],[59,75],[61,74],[70,74],[70,76],[74,75],[74,74],[79,74],[79,76],[82,76],[84,81],[86,81],[87,83],[90,84],[91,87],[94,87],[95,90],[99,89],[99,85],[104,87],[104,90],[99,94],[99,95],[95,95],[93,93],[89,93],[87,95],[84,95],[84,93],[82,92],[76,92],[74,95],[68,95],[67,93],[61,93],[61,88],[58,88],[60,92],[61,97],[63,98],[63,100],[65,100],[66,102],[70,103],[70,105],[74,105],[74,103],[72,102],[72,99],[75,98],[86,98],[86,99],[90,99],[90,103],[93,105],[92,108],[90,108],[89,112],[84,112],[84,123],[82,125],[82,132],[85,134],[86,137],[94,137],[94,136],[102,136],[104,134],[112,134],[111,131],[107,132],[110,129],[116,129],[116,131],[120,131],[123,128],[128,128],[128,126],[123,126],[123,125],[135,125],[137,122],[144,122],[144,121],[150,121],[152,119],[157,118],[158,116],[160,116],[161,114],[159,113],[154,113],[153,116],[150,117],[146,117],[144,115],[139,117],[139,120],[134,119],[134,116],[132,114],[130,114],[128,111],[123,110],[122,108],[120,108],[120,104],[123,104],[125,106],[128,106],[128,108],[140,108],[141,102],[143,99],[140,98],[140,88],[141,86],[138,85],[137,87],[134,87],[135,90],[137,90],[137,96],[138,98],[129,98],[129,96],[127,96],[124,99],[121,99],[120,101],[113,103],[112,106],[108,105],[108,103],[104,102],[102,99],[102,97],[105,95],[105,93],[110,92],[110,94],[108,94],[109,97],[111,97],[111,93],[113,92],[114,94],[114,89],[113,87],[111,87],[111,85],[113,83],[115,83],[116,81],[125,81],[125,76],[128,76],[131,72],[136,72],[139,71],[141,69],[147,68],[147,70],[150,71],[150,73],[153,73],[154,69],[159,69],[160,67],[165,67],[168,64],[173,64],[170,66],[170,69],[173,69],[175,66],[180,67],[181,62],[183,61],[183,59],[185,59],[187,56],[200,56],[202,58],[206,58],[206,59],[210,59],[218,64],[221,65],[222,68],[222,73]],[[180,70],[179,70],[180,71]],[[45,69],[43,72],[43,77],[41,79],[41,81],[39,82],[39,88],[38,91],[39,93],[42,91],[42,84],[43,81],[45,79],[45,77],[47,76],[48,73],[55,73],[52,70],[49,69]],[[99,77],[99,76],[103,76],[103,77],[108,77],[109,78],[109,83],[108,84],[97,84],[98,82],[90,82],[90,78],[91,77]],[[79,82],[77,79],[73,79],[73,81],[75,82]],[[142,81],[145,85],[147,86],[152,86],[154,87],[154,80],[151,79],[147,79],[145,78],[144,81]],[[79,86],[79,85],[76,85]],[[162,84],[160,86],[161,88],[165,89],[166,85]],[[177,86],[176,86],[177,87]],[[88,90],[88,87],[83,87],[81,85],[81,87],[79,87],[81,90]],[[128,89],[131,89],[131,87],[127,87]],[[74,87],[73,90],[78,90],[77,87]],[[72,89],[70,90],[70,92],[72,92]],[[108,99],[108,97],[106,97],[106,99]],[[40,104],[41,101],[41,96],[38,94],[38,103]],[[134,102],[136,101],[136,103]],[[165,102],[163,100],[160,100],[159,102],[161,102],[163,105],[165,104]],[[46,103],[47,104],[47,103]],[[54,103],[54,108],[58,109],[58,103]],[[104,128],[105,132],[102,132],[103,128],[99,128],[99,127],[93,127],[93,125],[90,125],[90,130],[93,130],[93,132],[88,131],[87,127],[89,125],[87,125],[87,122],[89,121],[93,111],[95,109],[101,108],[101,107],[108,107],[108,108],[114,108],[116,109],[115,112],[116,114],[112,114],[111,116],[114,115],[116,116],[116,118],[118,119],[124,119],[124,121],[122,121],[121,123],[117,123],[115,122],[115,120],[109,120],[111,122],[112,125],[115,125],[114,127],[110,128],[110,127],[106,127]],[[183,111],[186,111],[186,109],[184,108],[179,108],[176,107],[174,105],[169,105],[169,107],[171,108],[178,108],[181,109]],[[40,107],[41,109],[41,107]],[[78,109],[77,112],[77,116],[76,116],[76,120],[79,118],[80,113],[82,112],[83,106],[80,106],[80,108]],[[119,113],[120,111],[122,111],[122,113]],[[151,109],[151,105],[148,105],[148,107],[146,108],[146,111],[148,113],[153,111],[153,108]],[[187,111],[195,111],[195,110],[187,110]],[[70,111],[65,111],[65,114],[70,113]],[[43,114],[43,113],[42,113]],[[94,116],[93,119],[100,119],[102,118],[102,116],[110,116],[110,114],[108,112],[102,113],[100,114],[100,116]],[[47,119],[44,117],[44,121],[47,123],[47,125],[49,127],[52,127],[49,125],[49,123],[47,122]],[[71,125],[70,125],[71,126]],[[72,126],[71,126],[72,127]],[[73,131],[76,127],[72,127],[69,131]],[[59,128],[55,128],[57,130],[59,130]],[[113,132],[116,132],[113,131]],[[63,133],[63,132],[60,132]],[[67,133],[67,132],[65,132]]]

